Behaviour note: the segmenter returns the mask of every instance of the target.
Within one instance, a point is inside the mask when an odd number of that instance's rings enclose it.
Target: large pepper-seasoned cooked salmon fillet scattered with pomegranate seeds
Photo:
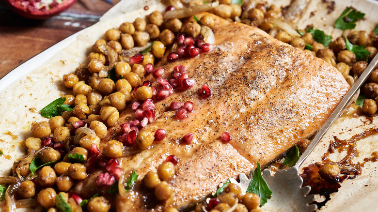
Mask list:
[[[155,103],[156,120],[142,131],[165,129],[167,136],[148,149],[129,147],[120,159],[126,174],[135,170],[138,182],[148,171],[156,171],[169,155],[178,158],[169,183],[173,195],[158,201],[153,189],[137,183],[121,192],[117,211],[161,211],[164,207],[193,206],[217,189],[221,182],[250,171],[260,162],[267,165],[301,139],[313,135],[331,115],[349,86],[337,69],[325,61],[284,44],[266,32],[214,16],[215,43],[212,51],[174,62],[162,60],[156,66],[170,76],[173,67],[185,65],[195,80],[189,90],[175,90]],[[201,15],[197,15],[201,17]],[[147,80],[156,81],[152,76]],[[202,98],[199,90],[212,90]],[[157,86],[157,83],[154,82]],[[171,102],[194,103],[188,118],[178,121],[169,110]],[[126,109],[118,123],[102,140],[117,139],[120,124],[135,120]],[[228,132],[232,140],[221,141]],[[182,137],[193,134],[190,144]]]

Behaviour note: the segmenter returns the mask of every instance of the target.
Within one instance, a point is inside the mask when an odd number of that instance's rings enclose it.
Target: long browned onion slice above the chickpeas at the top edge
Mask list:
[[[217,0],[211,3],[202,4],[202,5],[195,5],[195,6],[185,7],[181,9],[167,11],[164,14],[164,19],[189,17],[197,13],[209,11],[217,7],[218,5],[219,5],[219,1]]]

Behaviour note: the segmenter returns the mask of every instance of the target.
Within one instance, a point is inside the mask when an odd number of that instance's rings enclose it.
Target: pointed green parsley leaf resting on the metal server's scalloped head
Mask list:
[[[247,188],[247,193],[253,193],[260,196],[260,207],[267,203],[268,198],[270,198],[273,194],[273,192],[269,189],[267,182],[261,175],[259,162],[257,162],[257,167],[256,169],[254,169],[253,178],[250,182],[250,185]]]

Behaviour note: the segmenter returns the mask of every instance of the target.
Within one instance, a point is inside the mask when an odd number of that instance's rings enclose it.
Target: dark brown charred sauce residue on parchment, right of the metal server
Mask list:
[[[311,186],[310,194],[320,194],[326,197],[326,201],[318,203],[319,208],[330,199],[331,193],[338,191],[341,187],[340,182],[343,182],[345,179],[354,179],[358,175],[361,175],[362,167],[364,167],[366,162],[378,161],[378,152],[374,151],[372,157],[364,158],[362,163],[357,162],[354,164],[352,162],[352,159],[358,156],[357,141],[377,133],[378,128],[370,128],[345,140],[340,140],[334,136],[334,141],[331,141],[328,151],[324,153],[322,162],[311,164],[310,166],[303,168],[303,174],[300,174],[300,177],[303,179],[302,186]],[[330,154],[335,151],[338,151],[339,153],[347,151],[347,155],[342,160],[333,162],[330,160]],[[337,165],[340,168],[340,177],[332,180],[322,179],[318,172],[325,164]]]

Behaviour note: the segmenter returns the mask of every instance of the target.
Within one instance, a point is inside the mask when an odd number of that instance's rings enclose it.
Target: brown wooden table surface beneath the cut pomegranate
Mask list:
[[[0,78],[51,45],[93,25],[112,6],[103,0],[77,0],[60,15],[31,20],[15,14],[0,0]]]

